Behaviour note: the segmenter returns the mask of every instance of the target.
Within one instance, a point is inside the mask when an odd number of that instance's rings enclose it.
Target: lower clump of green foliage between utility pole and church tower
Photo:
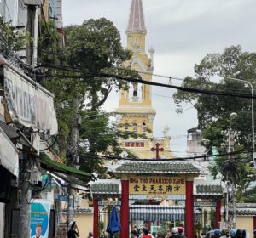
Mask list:
[[[119,156],[124,151],[120,139],[135,136],[134,133],[125,132],[115,122],[109,121],[111,114],[104,111],[80,111],[82,125],[79,129],[80,164],[83,170],[99,174],[107,173],[105,161],[98,157]],[[132,157],[130,150],[126,150]]]

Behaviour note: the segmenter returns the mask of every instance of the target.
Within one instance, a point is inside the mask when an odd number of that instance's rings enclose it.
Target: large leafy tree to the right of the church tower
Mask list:
[[[186,77],[183,86],[188,88],[205,88],[226,93],[251,94],[251,89],[243,82],[230,80],[229,77],[245,79],[254,82],[256,78],[256,54],[243,52],[241,46],[225,48],[222,54],[207,54],[200,64],[195,65],[195,78]],[[218,148],[219,152],[226,149],[223,146],[225,130],[230,128],[230,113],[236,112],[237,117],[232,122],[232,129],[239,132],[236,139],[235,150],[252,149],[252,119],[251,99],[241,99],[229,96],[208,94],[192,94],[177,91],[174,94],[177,103],[177,112],[182,113],[181,103],[190,103],[198,113],[199,127],[203,130],[209,153],[212,148]],[[239,144],[239,145],[238,145]],[[212,173],[228,173],[230,165],[227,157],[218,158],[212,166]],[[251,160],[250,155],[232,156],[236,171],[236,183],[241,184],[242,189],[250,180],[252,168],[247,165]],[[224,171],[226,170],[226,171]]]

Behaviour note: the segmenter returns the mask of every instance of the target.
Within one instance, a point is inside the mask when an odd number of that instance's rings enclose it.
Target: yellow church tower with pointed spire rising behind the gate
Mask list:
[[[131,1],[131,12],[126,31],[127,48],[133,53],[125,66],[139,72],[144,81],[151,82],[154,71],[154,49],[150,48],[146,54],[146,27],[141,0]],[[163,131],[163,137],[156,139],[153,136],[154,117],[156,111],[152,107],[151,86],[140,83],[131,83],[121,91],[119,107],[115,110],[116,120],[122,129],[137,133],[137,138],[122,140],[123,147],[131,150],[138,158],[143,159],[171,159],[171,137],[169,128]],[[142,136],[139,136],[142,135]]]

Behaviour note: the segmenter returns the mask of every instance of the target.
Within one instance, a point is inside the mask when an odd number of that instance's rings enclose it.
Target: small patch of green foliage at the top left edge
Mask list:
[[[18,51],[30,41],[30,37],[28,31],[14,31],[11,21],[5,22],[3,17],[0,17],[0,40],[3,48],[7,48],[9,51]]]

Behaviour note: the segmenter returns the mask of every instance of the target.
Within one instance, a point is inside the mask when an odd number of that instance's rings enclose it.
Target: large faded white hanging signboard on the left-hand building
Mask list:
[[[4,95],[13,122],[57,133],[53,95],[31,78],[3,65]]]

